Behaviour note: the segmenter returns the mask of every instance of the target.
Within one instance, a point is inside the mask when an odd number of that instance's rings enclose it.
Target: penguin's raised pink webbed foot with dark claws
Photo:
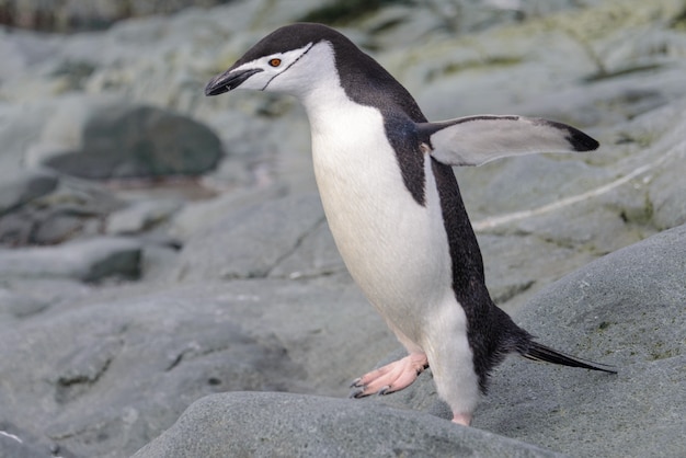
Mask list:
[[[364,398],[374,393],[384,396],[400,391],[412,385],[427,367],[426,354],[412,353],[355,379],[351,386],[355,388],[351,398]]]

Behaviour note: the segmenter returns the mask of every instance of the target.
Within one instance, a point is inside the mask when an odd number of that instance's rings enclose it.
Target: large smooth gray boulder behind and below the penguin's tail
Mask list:
[[[511,358],[475,425],[579,457],[683,456],[685,238],[681,226],[594,261],[516,316],[541,342],[618,376]]]

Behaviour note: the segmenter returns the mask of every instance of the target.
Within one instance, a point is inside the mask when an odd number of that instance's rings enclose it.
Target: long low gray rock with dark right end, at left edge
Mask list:
[[[77,278],[96,282],[139,275],[141,244],[101,237],[58,247],[0,249],[0,278]]]

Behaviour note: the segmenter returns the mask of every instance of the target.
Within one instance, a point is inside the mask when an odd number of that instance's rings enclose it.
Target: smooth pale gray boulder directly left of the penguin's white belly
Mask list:
[[[319,196],[306,194],[247,206],[196,231],[171,278],[293,278],[342,268]]]

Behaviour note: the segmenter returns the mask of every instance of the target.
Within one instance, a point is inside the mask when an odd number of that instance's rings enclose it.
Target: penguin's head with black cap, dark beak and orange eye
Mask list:
[[[347,41],[334,30],[310,23],[281,27],[262,38],[228,70],[213,78],[205,95],[233,89],[283,92],[300,95],[313,83],[325,80],[334,61],[333,43]]]

